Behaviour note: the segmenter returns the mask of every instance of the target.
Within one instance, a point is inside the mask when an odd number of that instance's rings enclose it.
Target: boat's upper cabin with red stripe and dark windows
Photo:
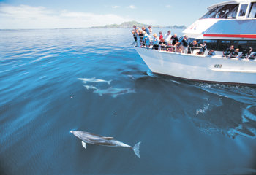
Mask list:
[[[214,4],[183,32],[190,41],[206,41],[208,49],[222,51],[234,45],[240,51],[249,47],[256,51],[256,1]]]

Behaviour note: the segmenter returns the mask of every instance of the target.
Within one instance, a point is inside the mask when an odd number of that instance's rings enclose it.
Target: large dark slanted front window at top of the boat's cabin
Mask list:
[[[238,11],[238,4],[228,4],[225,6],[215,7],[202,18],[236,18],[236,13]]]

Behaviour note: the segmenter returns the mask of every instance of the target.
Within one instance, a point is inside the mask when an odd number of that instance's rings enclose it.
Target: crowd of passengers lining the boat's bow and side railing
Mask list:
[[[188,36],[181,36],[178,38],[177,34],[171,34],[171,31],[167,31],[167,34],[163,35],[162,31],[159,31],[159,35],[156,33],[152,34],[151,26],[146,28],[143,26],[141,29],[137,26],[133,26],[132,34],[135,39],[135,44],[137,47],[152,48],[153,50],[161,50],[166,52],[186,52],[187,54],[193,54],[195,50],[196,55],[205,55],[207,50],[207,42],[204,41],[203,44],[198,44],[196,40],[189,43]],[[238,55],[239,49],[234,48],[231,45],[229,48],[223,51],[223,57],[226,58],[246,58],[254,59],[256,53],[252,54],[252,47],[248,50],[243,50],[241,55]],[[214,50],[209,50],[209,56],[214,56],[216,53]]]

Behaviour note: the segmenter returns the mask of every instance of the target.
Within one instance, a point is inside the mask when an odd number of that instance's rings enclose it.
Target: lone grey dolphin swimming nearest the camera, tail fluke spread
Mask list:
[[[114,140],[113,137],[99,136],[97,134],[88,133],[85,131],[70,131],[70,133],[74,134],[76,137],[82,140],[82,145],[85,149],[86,144],[97,144],[108,147],[127,147],[129,149],[132,149],[135,152],[135,155],[140,158],[140,142],[135,144],[134,147],[131,147],[121,141]]]

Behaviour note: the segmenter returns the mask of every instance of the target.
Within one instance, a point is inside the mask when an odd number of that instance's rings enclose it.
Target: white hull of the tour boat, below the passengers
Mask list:
[[[256,85],[256,61],[135,47],[152,72],[203,82]]]

